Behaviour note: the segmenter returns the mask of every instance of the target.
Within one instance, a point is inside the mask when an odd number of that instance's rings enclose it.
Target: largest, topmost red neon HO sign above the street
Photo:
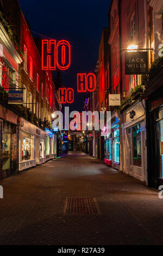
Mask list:
[[[71,64],[71,46],[66,40],[42,40],[42,70],[66,70]]]

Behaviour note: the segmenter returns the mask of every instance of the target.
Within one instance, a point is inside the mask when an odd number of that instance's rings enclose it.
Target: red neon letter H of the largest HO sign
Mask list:
[[[51,57],[52,47],[54,58]],[[42,70],[56,70],[56,40],[42,40]]]

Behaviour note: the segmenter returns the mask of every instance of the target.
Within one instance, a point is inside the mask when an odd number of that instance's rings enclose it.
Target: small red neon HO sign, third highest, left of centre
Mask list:
[[[59,88],[59,103],[72,103],[74,101],[74,91],[72,88]]]

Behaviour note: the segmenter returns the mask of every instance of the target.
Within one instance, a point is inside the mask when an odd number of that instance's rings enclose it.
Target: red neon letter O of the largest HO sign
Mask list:
[[[61,65],[59,64],[59,47],[61,46]],[[68,47],[68,58],[67,58],[67,64],[66,63],[66,47]],[[71,64],[71,46],[70,43],[66,40],[60,40],[57,44],[57,67],[60,70],[66,70],[69,68]]]

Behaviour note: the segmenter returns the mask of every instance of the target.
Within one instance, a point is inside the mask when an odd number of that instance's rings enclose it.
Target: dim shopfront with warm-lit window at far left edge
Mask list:
[[[0,105],[0,179],[17,170],[17,115]]]

